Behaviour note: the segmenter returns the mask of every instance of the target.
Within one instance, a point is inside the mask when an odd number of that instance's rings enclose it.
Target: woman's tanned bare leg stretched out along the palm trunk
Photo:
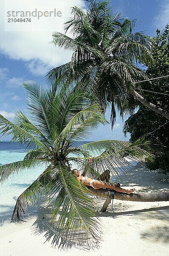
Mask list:
[[[106,188],[106,189],[113,189],[117,192],[125,192],[127,194],[130,194],[132,192],[135,191],[135,189],[123,189],[123,188],[120,188],[118,186],[114,186],[108,182],[104,182],[104,181],[99,181],[99,180],[95,180],[93,181],[93,186],[96,188],[96,189],[101,189],[101,188]]]

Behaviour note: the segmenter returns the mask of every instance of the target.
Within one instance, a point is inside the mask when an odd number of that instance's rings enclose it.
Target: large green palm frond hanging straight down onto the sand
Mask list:
[[[52,210],[56,231],[67,239],[76,238],[79,243],[84,240],[89,244],[93,240],[96,242],[100,225],[93,202],[86,194],[87,188],[80,185],[68,170],[59,167],[51,189],[51,196],[56,195]]]

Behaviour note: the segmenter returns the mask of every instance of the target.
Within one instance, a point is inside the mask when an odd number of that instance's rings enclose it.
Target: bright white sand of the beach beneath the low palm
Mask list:
[[[167,176],[150,172],[141,166],[131,174],[117,179],[123,186],[134,186],[137,192],[169,192]],[[169,201],[130,202],[114,200],[113,209],[99,209],[104,203],[97,199],[98,215],[101,218],[103,236],[100,248],[90,251],[90,256],[168,256],[169,255]],[[46,241],[44,234],[35,234],[33,216],[23,224],[8,224],[9,211],[0,216],[0,256],[88,256],[89,252],[73,248],[60,251]],[[39,213],[39,220],[43,214]],[[46,241],[46,242],[45,242]]]

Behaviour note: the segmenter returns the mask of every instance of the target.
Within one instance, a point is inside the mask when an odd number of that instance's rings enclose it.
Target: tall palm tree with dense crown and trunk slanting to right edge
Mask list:
[[[79,79],[99,95],[104,110],[111,104],[112,126],[115,106],[124,114],[132,114],[136,100],[169,119],[169,113],[144,99],[135,89],[135,81],[147,79],[138,67],[151,61],[151,38],[132,32],[136,20],[115,13],[107,1],[89,0],[88,9],[72,8],[73,17],[65,23],[65,31],[55,32],[52,43],[73,52],[71,61],[48,72],[48,80],[58,84]],[[137,85],[137,87],[139,87]]]

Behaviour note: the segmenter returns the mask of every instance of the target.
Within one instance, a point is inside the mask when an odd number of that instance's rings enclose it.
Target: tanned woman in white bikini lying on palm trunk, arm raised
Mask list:
[[[114,184],[110,183],[109,182],[109,180],[110,180],[110,171],[109,170],[106,170],[100,176],[100,180],[93,180],[90,177],[85,176],[85,174],[89,168],[89,164],[91,162],[92,162],[92,158],[90,158],[89,163],[88,163],[85,171],[82,173],[82,175],[79,174],[79,171],[77,169],[72,170],[72,173],[76,176],[76,180],[81,182],[83,185],[91,186],[91,187],[93,187],[93,189],[102,189],[102,188],[113,189],[117,192],[125,192],[127,194],[130,194],[135,191],[135,189],[122,189],[121,187],[118,186],[118,184],[114,185]]]

